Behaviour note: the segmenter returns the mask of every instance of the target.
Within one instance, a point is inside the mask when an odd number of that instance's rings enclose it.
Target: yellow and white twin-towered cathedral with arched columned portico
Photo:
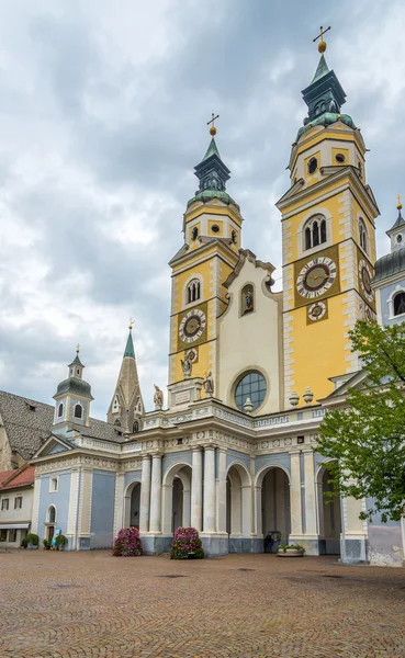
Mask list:
[[[277,204],[282,292],[272,291],[273,265],[241,248],[244,218],[212,125],[183,245],[170,261],[167,408],[156,386],[155,410],[145,411],[132,328],[106,423],[90,417],[77,354],[32,460],[40,536],[59,526],[68,548],[103,548],[122,526],[136,525],[145,551],[161,553],[176,527],[192,525],[211,556],[263,552],[269,535],[308,555],[401,563],[400,524],[382,541],[359,519],[365,500],[325,504],[327,468],[316,452],[326,410],[345,404],[360,370],[348,331],[359,318],[384,321],[385,288],[393,317],[395,294],[405,298],[404,282],[400,290],[391,270],[385,276],[389,265],[373,283],[379,209],[367,148],[341,113],[346,95],[325,47],[303,91],[307,116]]]

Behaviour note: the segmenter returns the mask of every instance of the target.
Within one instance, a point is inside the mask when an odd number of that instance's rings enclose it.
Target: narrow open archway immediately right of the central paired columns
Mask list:
[[[251,483],[241,464],[232,464],[226,478],[226,532],[229,535],[229,553],[243,551],[238,537],[251,534]],[[234,540],[234,541],[233,541]]]

